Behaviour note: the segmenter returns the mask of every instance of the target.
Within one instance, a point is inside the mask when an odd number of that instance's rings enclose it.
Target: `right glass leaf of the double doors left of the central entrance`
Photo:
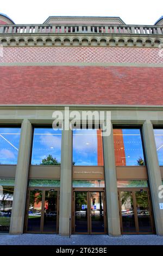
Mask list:
[[[57,231],[57,198],[57,191],[45,191],[43,231]]]

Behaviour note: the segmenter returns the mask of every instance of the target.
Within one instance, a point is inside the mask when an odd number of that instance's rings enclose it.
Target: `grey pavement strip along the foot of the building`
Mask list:
[[[69,238],[54,234],[0,234],[0,245],[163,245],[163,236],[72,235]]]

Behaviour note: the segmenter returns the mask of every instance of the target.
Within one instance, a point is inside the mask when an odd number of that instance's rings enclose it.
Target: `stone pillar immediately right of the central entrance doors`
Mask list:
[[[108,234],[111,236],[120,236],[120,210],[118,207],[117,177],[112,124],[110,136],[103,137],[103,149]]]

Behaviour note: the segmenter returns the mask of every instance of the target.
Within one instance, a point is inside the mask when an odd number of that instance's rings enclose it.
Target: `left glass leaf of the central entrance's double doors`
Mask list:
[[[75,232],[88,231],[87,226],[87,192],[75,193]]]

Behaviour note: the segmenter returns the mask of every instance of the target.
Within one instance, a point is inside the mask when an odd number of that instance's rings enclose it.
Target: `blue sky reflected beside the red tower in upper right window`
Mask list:
[[[122,157],[126,159],[126,166],[137,166],[137,160],[144,160],[140,129],[122,129],[122,133],[124,148],[121,150],[124,150]],[[118,154],[118,151],[115,151],[115,154]]]

